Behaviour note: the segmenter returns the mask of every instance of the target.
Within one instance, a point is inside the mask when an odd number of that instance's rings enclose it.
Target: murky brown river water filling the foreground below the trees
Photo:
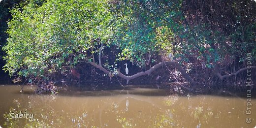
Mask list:
[[[0,85],[0,128],[254,128],[256,99],[170,95],[158,88],[62,90],[36,95],[31,87]],[[71,90],[71,91],[70,91]],[[23,114],[23,115],[22,115]],[[33,116],[32,116],[33,114]],[[251,123],[246,123],[246,119]]]

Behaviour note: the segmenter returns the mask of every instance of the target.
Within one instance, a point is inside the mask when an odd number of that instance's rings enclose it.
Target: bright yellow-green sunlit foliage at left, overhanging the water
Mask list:
[[[97,46],[96,38],[109,45],[111,19],[106,1],[30,0],[13,9],[8,23],[7,56],[10,75],[47,78],[90,58],[86,51]]]

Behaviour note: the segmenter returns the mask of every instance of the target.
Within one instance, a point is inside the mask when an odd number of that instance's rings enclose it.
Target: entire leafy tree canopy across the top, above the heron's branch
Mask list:
[[[182,65],[234,72],[248,53],[255,64],[255,9],[252,0],[27,0],[11,10],[4,70],[49,80],[89,62],[116,75],[120,62],[151,67],[172,53]]]

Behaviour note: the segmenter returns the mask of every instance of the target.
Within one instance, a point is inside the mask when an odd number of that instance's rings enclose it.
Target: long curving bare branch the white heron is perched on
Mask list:
[[[102,70],[103,72],[105,72],[106,74],[108,74],[108,76],[111,78],[112,75],[111,73],[106,70],[105,68],[103,68],[102,66],[100,65],[97,65],[93,62],[88,62],[89,64],[92,64],[93,66],[95,66],[96,68]],[[146,70],[146,71],[142,71],[142,72],[138,72],[134,75],[131,75],[131,76],[126,76],[124,75],[123,73],[121,73],[120,69],[118,69],[118,74],[117,76],[123,78],[123,79],[126,79],[127,80],[127,84],[129,83],[129,80],[132,80],[132,79],[135,79],[139,76],[143,76],[143,75],[150,75],[150,73],[152,73],[153,71],[155,71],[156,69],[158,69],[159,67],[161,67],[163,64],[166,64],[166,65],[172,65],[174,66],[175,68],[177,68],[181,74],[192,84],[194,85],[194,81],[192,80],[192,78],[186,73],[185,70],[182,69],[181,65],[179,63],[176,63],[176,62],[160,62],[159,64],[156,64],[154,66],[152,66],[149,70]]]

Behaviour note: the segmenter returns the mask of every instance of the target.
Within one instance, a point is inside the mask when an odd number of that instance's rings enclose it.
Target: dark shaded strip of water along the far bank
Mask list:
[[[4,85],[9,86],[9,85]],[[20,89],[21,86],[14,86],[11,85],[10,93],[15,95],[37,95],[35,94],[34,90],[30,86],[24,86],[24,91],[21,93]],[[209,95],[209,96],[221,96],[221,97],[239,97],[239,98],[247,98],[246,91],[240,92],[228,92],[228,91],[218,91],[218,90],[211,90],[211,92],[190,92],[184,91],[181,93],[175,93],[173,88],[160,86],[157,87],[156,85],[128,85],[124,86],[125,89],[120,85],[110,85],[104,87],[95,87],[95,86],[60,86],[58,87],[58,96],[119,96],[119,95],[138,95],[138,96],[200,96],[200,95]],[[251,98],[256,98],[256,92],[252,91]],[[44,93],[42,95],[51,95],[50,92]]]

